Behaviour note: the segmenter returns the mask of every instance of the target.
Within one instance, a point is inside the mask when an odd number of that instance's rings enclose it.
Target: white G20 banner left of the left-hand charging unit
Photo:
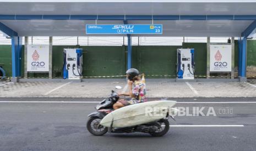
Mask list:
[[[26,67],[28,72],[48,72],[49,45],[28,45]]]

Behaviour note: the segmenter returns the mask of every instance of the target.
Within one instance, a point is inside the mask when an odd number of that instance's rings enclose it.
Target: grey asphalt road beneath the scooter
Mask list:
[[[86,115],[94,111],[95,101],[101,100],[0,98],[0,150],[256,150],[254,97],[170,98],[168,100],[178,101],[176,107],[205,107],[204,112],[213,107],[216,116],[177,116],[176,122],[170,119],[170,124],[178,127],[170,127],[163,137],[151,137],[146,133],[92,136],[85,127]],[[231,109],[232,114],[220,113]],[[201,126],[182,127],[184,125]]]

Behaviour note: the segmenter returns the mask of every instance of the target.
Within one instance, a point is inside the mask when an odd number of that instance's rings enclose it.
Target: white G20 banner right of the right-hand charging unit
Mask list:
[[[210,45],[210,72],[231,72],[231,45]]]

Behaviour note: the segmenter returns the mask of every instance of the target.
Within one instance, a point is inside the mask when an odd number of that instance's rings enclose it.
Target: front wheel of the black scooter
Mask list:
[[[87,121],[87,130],[96,136],[104,135],[107,132],[107,127],[100,125],[101,119],[99,117],[91,117]]]

